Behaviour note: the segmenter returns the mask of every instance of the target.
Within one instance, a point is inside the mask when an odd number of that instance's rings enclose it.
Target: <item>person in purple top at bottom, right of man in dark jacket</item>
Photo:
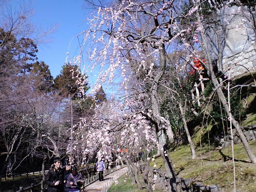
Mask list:
[[[80,188],[83,184],[83,176],[77,172],[76,166],[73,166],[72,173],[68,176],[66,187],[69,188],[70,192],[80,192]]]

